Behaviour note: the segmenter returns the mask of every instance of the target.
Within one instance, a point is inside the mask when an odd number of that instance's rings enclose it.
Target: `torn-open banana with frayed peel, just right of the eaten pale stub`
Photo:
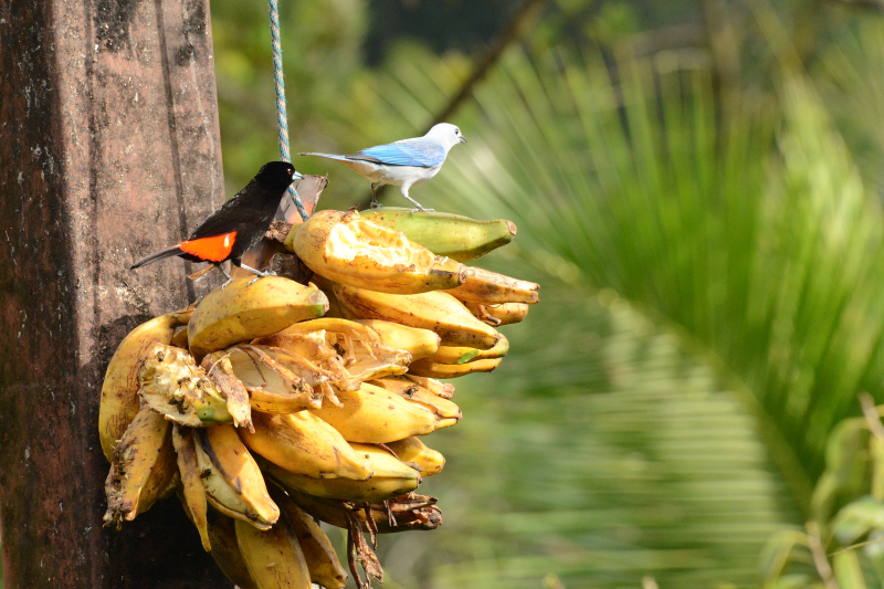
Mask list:
[[[322,404],[322,393],[314,391],[304,378],[251,346],[213,351],[203,359],[203,365],[209,362],[218,362],[224,371],[230,370],[248,391],[249,403],[255,411],[293,413]]]

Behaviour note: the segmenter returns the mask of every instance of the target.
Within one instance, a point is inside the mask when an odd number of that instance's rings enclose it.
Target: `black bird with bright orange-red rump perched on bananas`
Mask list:
[[[228,260],[254,273],[255,280],[271,275],[270,272],[243,264],[242,255],[267,232],[280,201],[294,178],[295,167],[287,161],[264,164],[245,188],[207,217],[187,241],[137,261],[130,270],[177,255],[191,262],[209,262],[227,276],[224,285],[233,280],[221,267],[221,263]]]

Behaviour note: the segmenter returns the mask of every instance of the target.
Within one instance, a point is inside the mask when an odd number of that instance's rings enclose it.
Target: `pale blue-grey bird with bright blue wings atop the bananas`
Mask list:
[[[371,207],[378,207],[375,190],[382,185],[402,187],[402,196],[425,210],[417,200],[408,196],[408,189],[425,182],[436,175],[449,150],[457,144],[465,144],[461,129],[448,123],[434,125],[423,137],[402,139],[387,145],[368,147],[348,156],[334,154],[301,154],[340,161],[351,170],[371,180]]]

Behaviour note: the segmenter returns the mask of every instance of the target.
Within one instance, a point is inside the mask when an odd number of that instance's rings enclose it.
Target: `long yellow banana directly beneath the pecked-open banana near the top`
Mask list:
[[[356,317],[430,329],[439,334],[445,346],[488,349],[501,336],[476,319],[460,301],[441,291],[394,295],[335,284],[334,292],[338,303]]]

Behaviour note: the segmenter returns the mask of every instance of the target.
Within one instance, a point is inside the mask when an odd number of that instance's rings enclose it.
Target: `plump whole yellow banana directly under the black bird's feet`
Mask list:
[[[328,298],[318,288],[277,276],[250,282],[240,278],[227,288],[219,286],[197,306],[188,324],[188,343],[198,360],[328,311]]]

